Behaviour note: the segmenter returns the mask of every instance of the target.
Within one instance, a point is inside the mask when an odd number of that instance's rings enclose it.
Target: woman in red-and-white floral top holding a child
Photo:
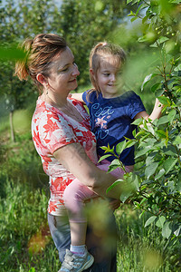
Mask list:
[[[33,113],[33,142],[43,161],[43,170],[50,177],[48,221],[62,262],[71,241],[63,205],[66,186],[77,178],[103,199],[119,199],[121,189],[117,187],[106,193],[116,178],[96,166],[96,141],[90,131],[89,116],[81,102],[68,98],[77,87],[76,78],[80,73],[65,40],[56,34],[37,34],[34,39],[25,40],[22,48],[26,57],[16,63],[15,74],[20,80],[27,80],[30,75],[41,91]],[[106,239],[115,237],[115,219],[106,200],[104,203],[107,223],[102,226],[102,231],[95,233],[88,226],[86,245],[94,257],[88,271],[116,271],[116,240],[109,243]],[[117,207],[117,202],[113,205]],[[73,254],[71,258],[74,258]],[[90,262],[87,267],[90,266],[93,260],[90,258],[87,253],[82,265],[84,269],[86,262]],[[79,261],[75,259],[73,266],[76,267]],[[71,268],[67,269],[71,271]]]

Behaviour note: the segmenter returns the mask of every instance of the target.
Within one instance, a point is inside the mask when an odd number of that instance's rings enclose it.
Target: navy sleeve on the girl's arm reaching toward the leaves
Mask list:
[[[130,91],[129,95],[129,117],[134,119],[138,112],[144,112],[146,109],[138,94]]]

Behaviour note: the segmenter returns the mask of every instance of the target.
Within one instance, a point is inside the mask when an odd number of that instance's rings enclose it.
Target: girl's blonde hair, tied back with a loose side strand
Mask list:
[[[92,69],[93,74],[90,73],[90,82],[93,87],[90,92],[96,91],[97,96],[100,93],[100,86],[97,83],[97,73],[100,68],[101,56],[103,54],[110,54],[119,59],[119,62],[122,65],[126,62],[126,53],[118,44],[110,44],[107,42],[100,42],[96,44],[90,51],[90,69]],[[88,93],[90,96],[90,92]]]

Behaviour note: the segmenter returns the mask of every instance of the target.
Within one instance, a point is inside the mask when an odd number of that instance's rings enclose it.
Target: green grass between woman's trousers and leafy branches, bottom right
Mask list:
[[[122,205],[116,212],[119,226],[118,271],[178,271],[179,245],[165,248],[165,240],[157,227],[144,228],[148,215],[139,218],[132,204]]]

